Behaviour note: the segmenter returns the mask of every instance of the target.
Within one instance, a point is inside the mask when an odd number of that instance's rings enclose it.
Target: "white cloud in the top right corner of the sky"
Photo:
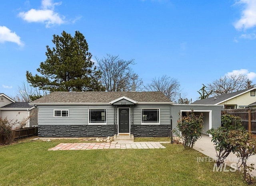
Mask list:
[[[238,20],[234,27],[238,30],[248,29],[256,26],[256,0],[240,0],[236,4],[244,4],[244,10],[240,20]]]

